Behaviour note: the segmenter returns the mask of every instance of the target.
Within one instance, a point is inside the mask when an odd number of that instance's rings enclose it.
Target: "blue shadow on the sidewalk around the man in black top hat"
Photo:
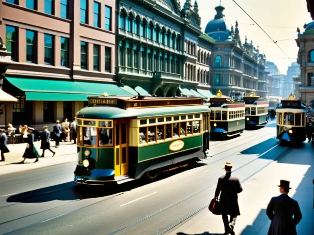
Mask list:
[[[304,160],[301,158],[304,157]],[[296,159],[297,158],[297,159]],[[300,165],[311,165],[311,167],[306,171],[306,174],[302,178],[302,181],[296,188],[295,194],[292,196],[293,199],[298,201],[300,210],[302,213],[302,219],[300,223],[296,226],[297,234],[309,234],[309,231],[314,231],[314,193],[313,193],[313,156],[306,157],[305,155],[293,156],[291,158],[284,158],[279,161],[279,163],[284,164],[300,164]],[[289,180],[289,179],[287,179]],[[290,187],[294,188],[294,185],[290,184]],[[279,195],[279,191],[278,191]],[[289,194],[288,194],[289,195]],[[277,195],[274,195],[277,196]],[[270,200],[270,198],[269,198]],[[264,205],[266,208],[267,205]],[[268,226],[270,220],[266,215],[266,209],[262,209],[252,225],[245,227],[241,235],[257,234],[267,234]],[[267,226],[266,226],[267,225]]]

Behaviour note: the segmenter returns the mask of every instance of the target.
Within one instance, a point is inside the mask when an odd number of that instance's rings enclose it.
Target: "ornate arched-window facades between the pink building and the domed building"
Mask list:
[[[118,9],[116,80],[124,89],[208,97],[214,40],[202,34],[197,1],[181,9],[178,0],[123,0]]]

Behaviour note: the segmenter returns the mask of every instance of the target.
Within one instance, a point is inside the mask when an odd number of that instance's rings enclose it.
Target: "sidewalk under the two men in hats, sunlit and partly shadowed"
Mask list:
[[[237,235],[267,235],[270,221],[266,207],[273,196],[279,195],[280,179],[290,181],[289,196],[298,201],[302,220],[297,233],[311,235],[314,231],[313,180],[314,150],[311,144],[304,149],[294,149],[280,162],[273,162],[243,184],[239,194],[241,216],[237,217],[234,229]],[[241,179],[240,179],[241,180]],[[214,195],[208,195],[208,203]],[[199,212],[169,235],[222,235],[224,226],[221,216],[213,215],[208,209]]]

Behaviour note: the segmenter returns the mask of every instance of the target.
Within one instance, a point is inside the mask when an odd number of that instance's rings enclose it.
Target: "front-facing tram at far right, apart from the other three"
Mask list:
[[[293,142],[306,140],[306,105],[295,100],[292,93],[289,100],[281,100],[276,108],[276,115],[277,139]]]

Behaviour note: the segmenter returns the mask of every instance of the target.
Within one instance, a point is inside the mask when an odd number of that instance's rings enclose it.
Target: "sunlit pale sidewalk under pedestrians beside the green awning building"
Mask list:
[[[50,142],[51,146],[55,146],[55,142]],[[41,141],[34,142],[39,154],[42,154],[40,149]],[[45,151],[45,158],[40,158],[39,162],[32,164],[35,159],[26,159],[24,164],[21,164],[23,160],[22,156],[26,149],[26,143],[22,144],[8,144],[9,153],[4,154],[5,161],[0,162],[0,175],[25,171],[34,170],[50,165],[57,165],[66,162],[77,161],[77,147],[76,144],[71,142],[61,142],[58,149],[52,147],[51,150],[56,152],[56,155],[52,158],[52,153],[49,150]]]

